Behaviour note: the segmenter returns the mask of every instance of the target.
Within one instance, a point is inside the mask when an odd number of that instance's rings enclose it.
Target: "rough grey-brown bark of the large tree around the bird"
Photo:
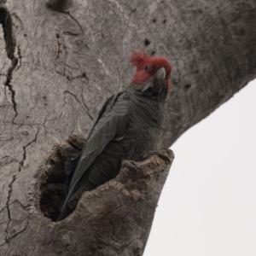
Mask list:
[[[134,49],[172,62],[159,148],[241,90],[256,77],[256,2],[2,0],[0,23],[1,255],[143,255],[172,152],[55,223],[63,161],[131,81]]]

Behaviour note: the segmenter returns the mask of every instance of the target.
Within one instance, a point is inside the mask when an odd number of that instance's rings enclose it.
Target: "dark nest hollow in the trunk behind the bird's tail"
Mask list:
[[[65,198],[64,183],[67,174],[64,172],[64,163],[78,156],[83,146],[84,137],[68,137],[67,142],[55,145],[43,166],[40,166],[44,172],[40,188],[40,209],[45,217],[53,221],[59,216]]]

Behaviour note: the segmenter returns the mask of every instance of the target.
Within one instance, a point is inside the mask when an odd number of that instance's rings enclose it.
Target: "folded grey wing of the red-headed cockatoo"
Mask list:
[[[78,166],[73,172],[69,192],[62,209],[67,206],[67,201],[70,196],[73,195],[73,192],[79,185],[79,181],[84,177],[97,156],[102,153],[104,148],[106,148],[114,137],[124,133],[125,126],[129,119],[129,100],[130,97],[123,91],[117,95],[111,96],[102,107],[96,123],[93,125],[84,145]]]

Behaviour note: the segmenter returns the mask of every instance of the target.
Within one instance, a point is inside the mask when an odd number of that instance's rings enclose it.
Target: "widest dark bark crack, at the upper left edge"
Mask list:
[[[18,115],[17,112],[17,104],[15,102],[15,90],[13,89],[13,85],[11,84],[11,80],[13,77],[13,71],[15,67],[17,67],[19,58],[15,56],[15,36],[13,34],[13,27],[12,27],[12,20],[11,16],[9,14],[9,11],[5,7],[0,7],[0,24],[3,26],[3,37],[5,41],[5,49],[7,56],[9,60],[11,61],[11,66],[9,67],[8,73],[6,74],[6,81],[4,83],[4,86],[8,87],[10,93],[11,93],[11,100],[13,103],[13,108],[15,111],[15,118]],[[18,54],[20,52],[20,49],[18,49]],[[20,54],[19,54],[20,55]],[[13,119],[13,121],[15,120]]]

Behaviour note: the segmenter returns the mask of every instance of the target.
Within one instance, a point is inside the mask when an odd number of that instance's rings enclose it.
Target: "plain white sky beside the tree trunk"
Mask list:
[[[172,146],[144,256],[256,255],[256,79]]]

